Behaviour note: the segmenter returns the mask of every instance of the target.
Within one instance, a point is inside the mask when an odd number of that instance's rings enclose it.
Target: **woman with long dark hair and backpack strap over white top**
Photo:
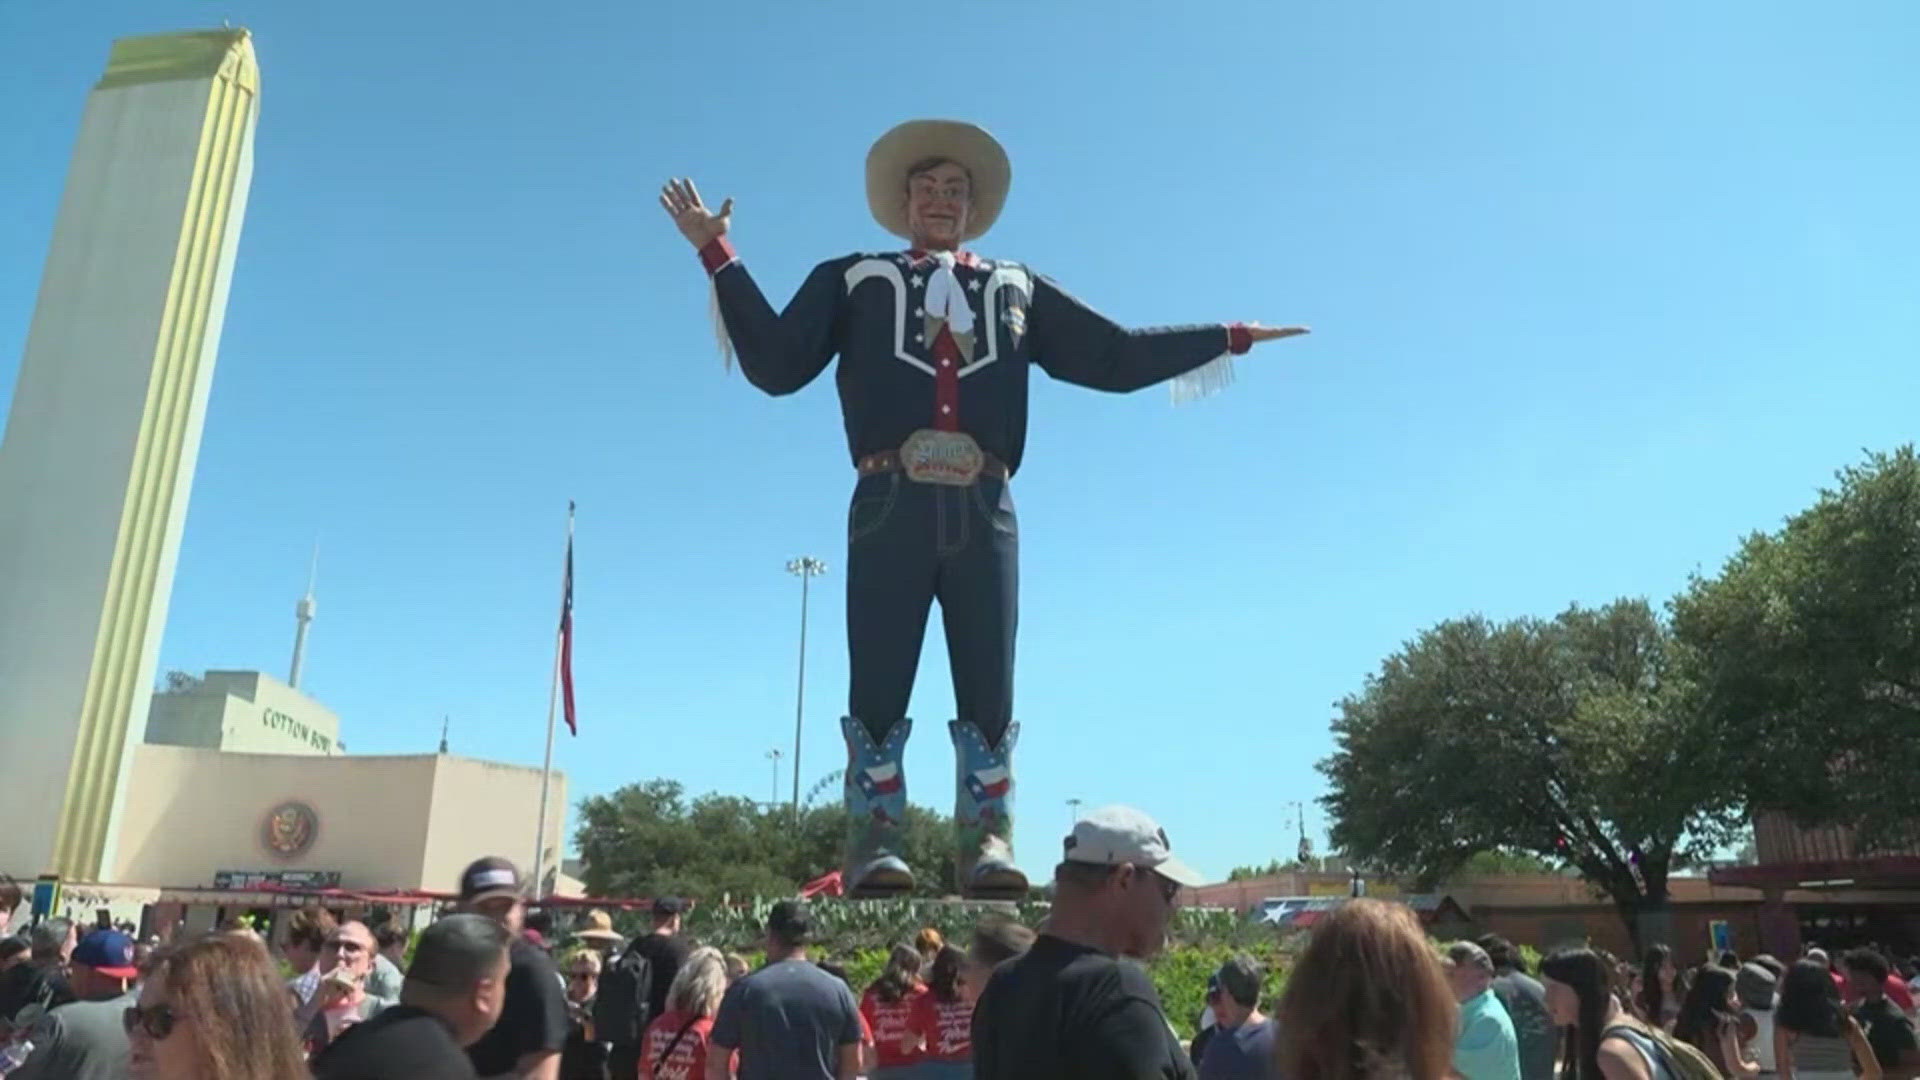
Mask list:
[[[1594,949],[1561,949],[1540,961],[1548,1015],[1565,1030],[1561,1080],[1672,1080],[1653,1038],[1636,1028]]]

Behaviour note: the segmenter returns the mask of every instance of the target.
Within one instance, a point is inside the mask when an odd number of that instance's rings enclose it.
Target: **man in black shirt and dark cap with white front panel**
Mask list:
[[[561,986],[553,959],[522,936],[526,903],[520,899],[520,872],[499,857],[467,867],[461,874],[461,909],[499,922],[513,938],[513,967],[499,1020],[467,1047],[474,1072],[482,1078],[557,1080],[568,1030],[566,988]]]

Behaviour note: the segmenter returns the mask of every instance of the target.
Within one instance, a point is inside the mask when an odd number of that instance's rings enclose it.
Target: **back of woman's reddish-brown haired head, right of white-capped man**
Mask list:
[[[1313,924],[1281,995],[1286,1080],[1444,1080],[1459,1005],[1413,909],[1352,899]]]

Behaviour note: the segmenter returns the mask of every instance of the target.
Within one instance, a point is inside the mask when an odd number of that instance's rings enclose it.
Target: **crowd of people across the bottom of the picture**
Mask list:
[[[6,1080],[1916,1080],[1910,963],[1874,949],[1682,970],[1572,947],[1528,970],[1503,938],[1436,949],[1411,909],[1319,919],[1269,999],[1252,957],[1208,980],[1183,1045],[1139,961],[1196,874],[1129,807],[1087,815],[1043,926],[900,942],[864,988],[780,901],[764,963],[689,942],[678,899],[624,940],[591,911],[555,944],[507,859],[480,859],[419,936],[282,920],[148,949],[44,919],[0,936]],[[0,882],[0,919],[8,903]],[[0,934],[6,924],[0,922]]]

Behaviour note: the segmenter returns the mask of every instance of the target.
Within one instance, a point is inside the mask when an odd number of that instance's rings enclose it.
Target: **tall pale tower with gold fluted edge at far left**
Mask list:
[[[234,248],[246,31],[113,42],[0,440],[0,871],[100,880],[154,690]]]

